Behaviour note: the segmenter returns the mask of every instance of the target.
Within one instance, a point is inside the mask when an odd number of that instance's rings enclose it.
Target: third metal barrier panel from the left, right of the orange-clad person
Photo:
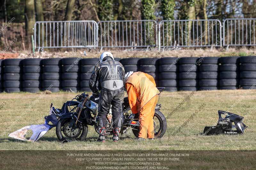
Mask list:
[[[161,47],[221,46],[221,22],[218,19],[163,20],[158,25]]]

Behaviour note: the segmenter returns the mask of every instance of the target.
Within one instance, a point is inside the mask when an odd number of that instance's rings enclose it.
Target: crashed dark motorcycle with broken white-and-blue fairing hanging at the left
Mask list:
[[[157,87],[162,92],[164,87]],[[67,101],[63,104],[62,108],[55,108],[51,104],[50,113],[45,116],[44,124],[40,125],[28,125],[9,135],[9,137],[20,139],[23,141],[35,142],[48,132],[53,127],[56,127],[56,135],[62,142],[68,142],[73,140],[85,140],[88,133],[88,125],[94,126],[94,129],[98,132],[98,101],[99,95],[92,95],[82,93],[77,95],[71,101]],[[160,112],[161,104],[157,104],[154,114],[154,132],[155,138],[161,138],[167,128],[166,119],[162,112]],[[127,133],[129,129],[132,129],[135,137],[138,137],[140,130],[139,119],[135,118],[132,114],[129,106],[128,98],[124,98],[122,105],[122,128],[120,133]],[[113,135],[113,119],[111,109],[106,117],[106,136]],[[31,137],[26,137],[28,130],[32,130]]]

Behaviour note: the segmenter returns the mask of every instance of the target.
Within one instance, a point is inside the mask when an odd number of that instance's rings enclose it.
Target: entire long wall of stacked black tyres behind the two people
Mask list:
[[[255,56],[154,57],[119,59],[125,72],[142,71],[166,91],[252,89],[256,84]],[[91,92],[89,79],[98,58],[0,60],[0,92]],[[100,84],[97,84],[100,89]]]

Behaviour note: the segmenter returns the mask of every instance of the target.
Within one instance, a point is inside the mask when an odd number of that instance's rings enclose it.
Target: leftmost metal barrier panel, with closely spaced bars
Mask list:
[[[35,48],[96,48],[97,23],[88,21],[37,21]]]

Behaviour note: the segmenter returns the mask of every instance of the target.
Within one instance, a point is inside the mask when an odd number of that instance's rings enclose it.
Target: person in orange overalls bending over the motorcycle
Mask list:
[[[139,114],[140,132],[138,140],[154,139],[155,107],[160,92],[152,76],[143,72],[125,74],[125,88],[133,114]],[[137,117],[137,116],[136,116]]]

